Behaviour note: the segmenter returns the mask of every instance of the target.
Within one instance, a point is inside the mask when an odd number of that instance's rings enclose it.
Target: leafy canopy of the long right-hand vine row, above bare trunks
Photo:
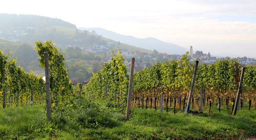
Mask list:
[[[194,98],[200,97],[202,87],[205,96],[210,101],[225,98],[232,100],[236,96],[241,75],[240,61],[233,59],[220,60],[215,64],[198,66],[194,86]],[[133,83],[133,98],[159,98],[163,92],[165,99],[187,99],[193,75],[194,62],[189,61],[188,53],[181,60],[168,60],[163,63],[144,68],[135,73]],[[248,98],[255,97],[256,67],[246,66],[243,93]],[[160,72],[160,73],[159,73]],[[160,88],[163,84],[163,91]]]

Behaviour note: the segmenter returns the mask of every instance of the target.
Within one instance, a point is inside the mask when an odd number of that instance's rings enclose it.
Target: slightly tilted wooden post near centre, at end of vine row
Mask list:
[[[128,97],[127,97],[127,107],[126,107],[126,121],[129,121],[129,114],[130,114],[130,107],[131,107],[131,98],[132,98],[132,89],[133,89],[134,62],[135,62],[135,59],[132,58],[131,72],[130,72],[130,81],[129,81],[129,89],[128,89]],[[105,86],[105,89],[106,89],[106,86]]]

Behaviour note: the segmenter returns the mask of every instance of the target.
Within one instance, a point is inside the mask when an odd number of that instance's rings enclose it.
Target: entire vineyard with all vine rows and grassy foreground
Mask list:
[[[243,66],[233,59],[198,65],[186,53],[180,60],[158,62],[135,74],[132,59],[129,75],[118,50],[112,51],[112,60],[93,73],[88,84],[73,87],[65,57],[52,41],[38,41],[35,49],[46,81],[15,65],[11,52],[4,55],[0,50],[0,103],[5,108],[0,110],[4,118],[0,138],[208,139],[225,134],[232,139],[256,135],[255,65]],[[230,115],[236,103],[240,111]],[[12,116],[14,112],[23,113]],[[28,112],[32,115],[26,116]],[[28,122],[19,124],[23,120]]]

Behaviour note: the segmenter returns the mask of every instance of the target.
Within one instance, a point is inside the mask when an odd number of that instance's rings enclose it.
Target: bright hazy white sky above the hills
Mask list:
[[[8,0],[1,2],[0,13],[56,17],[77,27],[155,37],[215,55],[256,58],[255,0]]]

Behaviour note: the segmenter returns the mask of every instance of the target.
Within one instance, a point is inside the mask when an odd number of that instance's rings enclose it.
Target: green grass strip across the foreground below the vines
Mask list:
[[[79,99],[80,100],[80,99]],[[80,102],[80,101],[78,101]],[[46,120],[45,104],[0,109],[0,138],[3,139],[234,139],[256,135],[256,109],[247,106],[236,116],[226,108],[212,113],[185,114],[132,108],[125,114],[104,110],[97,104],[81,102]]]

